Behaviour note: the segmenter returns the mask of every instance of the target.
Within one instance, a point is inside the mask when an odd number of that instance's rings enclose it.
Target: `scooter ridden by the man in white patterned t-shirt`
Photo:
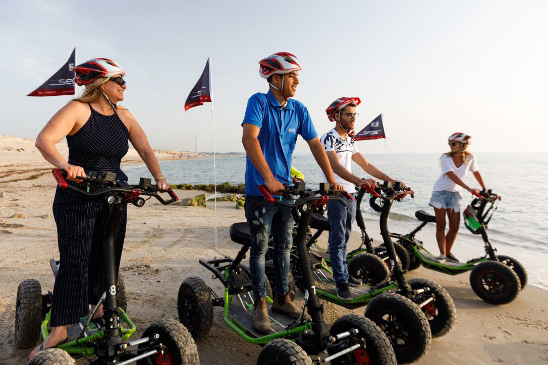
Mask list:
[[[336,294],[336,282],[331,269],[322,257],[309,250],[307,253],[316,292],[319,298],[345,308],[356,309],[367,305],[365,316],[386,333],[398,362],[414,362],[429,350],[432,337],[441,337],[453,327],[456,313],[453,299],[435,282],[425,279],[407,282],[401,264],[396,259],[388,235],[387,218],[393,200],[402,200],[413,192],[402,187],[399,182],[395,186],[385,182],[375,190],[369,187],[364,189],[385,200],[387,211],[380,217],[380,231],[391,260],[390,271],[374,254],[364,252],[356,255],[352,258],[356,264],[351,266],[349,263],[349,273],[371,285],[350,286],[352,300],[342,300]],[[290,254],[292,263],[295,258],[293,253]],[[296,286],[301,289],[302,274],[299,266],[292,265],[292,269]]]

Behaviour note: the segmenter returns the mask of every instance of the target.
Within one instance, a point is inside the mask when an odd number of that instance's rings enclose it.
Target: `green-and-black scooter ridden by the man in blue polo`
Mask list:
[[[257,364],[395,364],[396,357],[386,335],[379,327],[365,317],[345,315],[335,321],[328,331],[323,320],[323,306],[318,303],[313,274],[306,255],[306,231],[310,213],[316,206],[328,200],[338,200],[348,205],[340,193],[328,190],[328,184],[320,184],[319,190],[307,190],[298,182],[286,187],[283,195],[296,196],[296,201],[273,198],[266,186],[259,186],[265,201],[286,207],[298,207],[301,219],[293,242],[298,247],[305,285],[304,304],[298,320],[277,314],[271,310],[272,297],[267,297],[271,332],[263,334],[252,327],[254,298],[250,271],[242,264],[250,246],[250,229],[247,222],[235,223],[230,227],[231,239],[242,245],[236,258],[225,257],[213,260],[199,260],[199,263],[212,271],[213,279],[219,279],[225,287],[224,296],[219,297],[199,277],[192,276],[182,282],[178,294],[179,320],[189,328],[195,339],[205,337],[213,322],[213,306],[224,309],[224,321],[249,343],[263,345]],[[350,198],[350,195],[346,195]],[[293,198],[292,198],[293,199]],[[267,292],[271,292],[265,281]],[[212,298],[213,297],[213,298]],[[305,320],[305,308],[311,320]],[[327,353],[323,359],[321,356]],[[314,356],[311,358],[311,356]]]

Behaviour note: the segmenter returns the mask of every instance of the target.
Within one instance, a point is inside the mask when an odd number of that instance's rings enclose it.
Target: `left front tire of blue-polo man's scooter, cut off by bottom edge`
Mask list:
[[[278,338],[262,347],[257,365],[312,365],[312,360],[301,346]]]

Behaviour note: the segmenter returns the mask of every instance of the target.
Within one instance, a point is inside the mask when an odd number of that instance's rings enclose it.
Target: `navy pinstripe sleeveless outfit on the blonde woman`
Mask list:
[[[127,181],[120,161],[128,152],[128,129],[118,114],[103,115],[89,105],[88,121],[74,135],[67,136],[68,163],[88,171],[116,172]],[[68,181],[69,184],[81,186]],[[53,215],[57,224],[60,253],[59,273],[53,289],[52,326],[78,323],[89,313],[88,304],[98,303],[105,291],[102,271],[102,236],[109,207],[102,196],[90,197],[57,188]],[[116,230],[116,273],[122,256],[127,209]]]

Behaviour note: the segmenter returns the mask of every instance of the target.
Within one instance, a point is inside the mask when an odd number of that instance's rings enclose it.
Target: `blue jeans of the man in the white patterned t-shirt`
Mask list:
[[[354,194],[350,194],[354,196]],[[346,246],[352,232],[352,222],[356,218],[356,199],[347,207],[339,201],[327,203],[329,230],[329,258],[333,269],[333,279],[338,283],[348,283],[346,268]]]

